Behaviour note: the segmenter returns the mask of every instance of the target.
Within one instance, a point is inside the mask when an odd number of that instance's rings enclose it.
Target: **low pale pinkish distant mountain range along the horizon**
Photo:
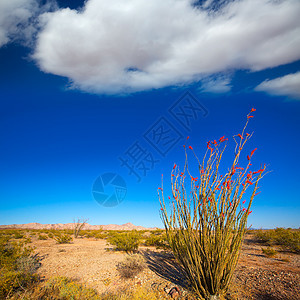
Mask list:
[[[40,223],[27,223],[27,224],[11,224],[0,225],[0,229],[15,228],[15,229],[73,229],[74,223],[67,224],[40,224]],[[123,225],[109,224],[109,225],[90,225],[85,224],[84,230],[155,230],[157,227],[146,228],[143,226],[136,226],[132,223],[126,223]]]

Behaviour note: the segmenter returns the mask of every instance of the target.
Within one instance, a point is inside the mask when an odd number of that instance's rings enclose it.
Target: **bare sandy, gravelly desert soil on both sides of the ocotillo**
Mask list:
[[[184,288],[184,280],[174,259],[155,248],[140,248],[147,268],[134,279],[121,279],[116,265],[126,253],[113,251],[105,240],[78,238],[71,244],[54,240],[35,240],[41,257],[38,270],[43,279],[67,276],[78,279],[100,294],[126,286],[147,286],[165,293],[172,287],[181,291],[181,299],[193,299]],[[248,235],[244,241],[227,299],[300,299],[300,256],[279,252],[274,258],[262,254],[261,246]],[[168,296],[167,296],[168,297]],[[171,297],[170,297],[171,299]]]

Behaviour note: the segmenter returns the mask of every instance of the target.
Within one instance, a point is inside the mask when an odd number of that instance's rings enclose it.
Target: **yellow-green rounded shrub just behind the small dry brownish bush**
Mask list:
[[[122,233],[112,233],[108,237],[108,242],[116,247],[116,250],[135,252],[140,245],[141,235],[137,231]]]

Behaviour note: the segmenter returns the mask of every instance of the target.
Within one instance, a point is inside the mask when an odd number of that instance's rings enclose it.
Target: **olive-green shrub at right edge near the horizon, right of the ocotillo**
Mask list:
[[[278,245],[283,250],[300,253],[299,229],[276,228],[272,230],[258,230],[255,233],[255,237],[265,245]]]

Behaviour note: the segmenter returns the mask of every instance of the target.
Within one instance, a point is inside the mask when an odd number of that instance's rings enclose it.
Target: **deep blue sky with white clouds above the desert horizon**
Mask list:
[[[271,172],[248,223],[299,227],[299,1],[4,0],[0,11],[1,224],[162,226],[157,187],[183,165],[185,138],[201,157],[225,135],[229,167],[255,107],[241,164],[257,147],[253,169]],[[189,124],[176,114],[187,103]],[[151,135],[161,128],[165,145]],[[106,173],[126,183],[113,207],[92,193]]]

